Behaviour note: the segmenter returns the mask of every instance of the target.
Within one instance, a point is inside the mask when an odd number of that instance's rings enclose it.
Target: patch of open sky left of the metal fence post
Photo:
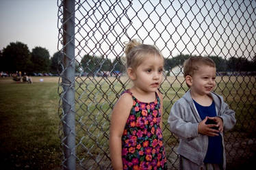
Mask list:
[[[0,50],[10,42],[23,42],[32,51],[57,52],[56,0],[0,0]]]

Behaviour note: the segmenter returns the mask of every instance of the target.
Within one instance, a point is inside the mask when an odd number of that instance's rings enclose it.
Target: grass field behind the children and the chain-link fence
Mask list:
[[[58,78],[33,77],[33,81],[33,84],[27,84],[0,78],[0,160],[5,169],[60,167]],[[216,81],[216,92],[222,94],[231,109],[236,111],[238,123],[233,131],[243,132],[240,138],[255,138],[255,77],[218,77]],[[82,78],[77,79],[76,84],[77,140],[90,134],[79,141],[83,147],[77,146],[77,155],[81,158],[90,156],[84,145],[92,147],[92,154],[99,154],[101,150],[94,149],[95,141],[108,152],[107,133],[104,131],[109,128],[111,107],[116,101],[116,94],[131,84],[125,77],[120,81],[114,78]],[[162,84],[166,138],[170,136],[166,124],[170,107],[186,90],[182,77],[168,77]],[[169,146],[174,142],[168,139],[166,144]]]

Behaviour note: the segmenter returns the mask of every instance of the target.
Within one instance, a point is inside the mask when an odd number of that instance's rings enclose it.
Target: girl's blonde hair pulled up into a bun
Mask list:
[[[149,55],[163,57],[162,53],[156,46],[142,44],[140,41],[133,39],[125,43],[126,68],[136,69],[145,57]]]

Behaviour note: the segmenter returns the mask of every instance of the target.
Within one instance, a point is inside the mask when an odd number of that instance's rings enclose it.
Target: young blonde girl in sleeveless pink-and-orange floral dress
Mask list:
[[[133,87],[123,91],[112,111],[110,157],[116,169],[167,169],[162,137],[164,57],[155,46],[131,40],[126,46],[127,75]]]

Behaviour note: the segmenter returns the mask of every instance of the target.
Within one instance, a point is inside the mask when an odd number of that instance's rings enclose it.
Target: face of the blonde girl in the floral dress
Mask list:
[[[164,59],[159,56],[150,55],[131,71],[130,79],[133,85],[145,92],[157,91],[162,83],[164,70]]]

